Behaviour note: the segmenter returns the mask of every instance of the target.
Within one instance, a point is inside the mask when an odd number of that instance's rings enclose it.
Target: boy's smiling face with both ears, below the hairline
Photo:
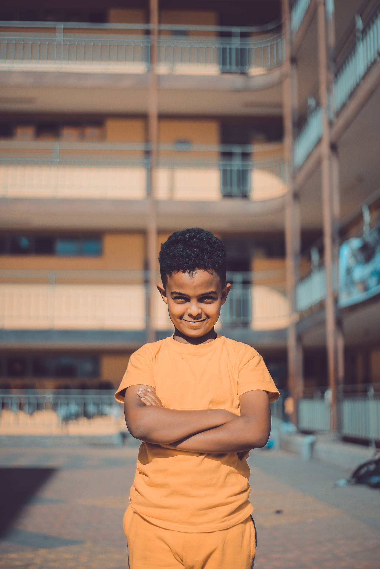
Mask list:
[[[197,339],[214,330],[231,284],[222,286],[214,272],[198,270],[193,276],[173,273],[168,276],[165,288],[161,284],[157,284],[157,288],[168,304],[176,332]]]

